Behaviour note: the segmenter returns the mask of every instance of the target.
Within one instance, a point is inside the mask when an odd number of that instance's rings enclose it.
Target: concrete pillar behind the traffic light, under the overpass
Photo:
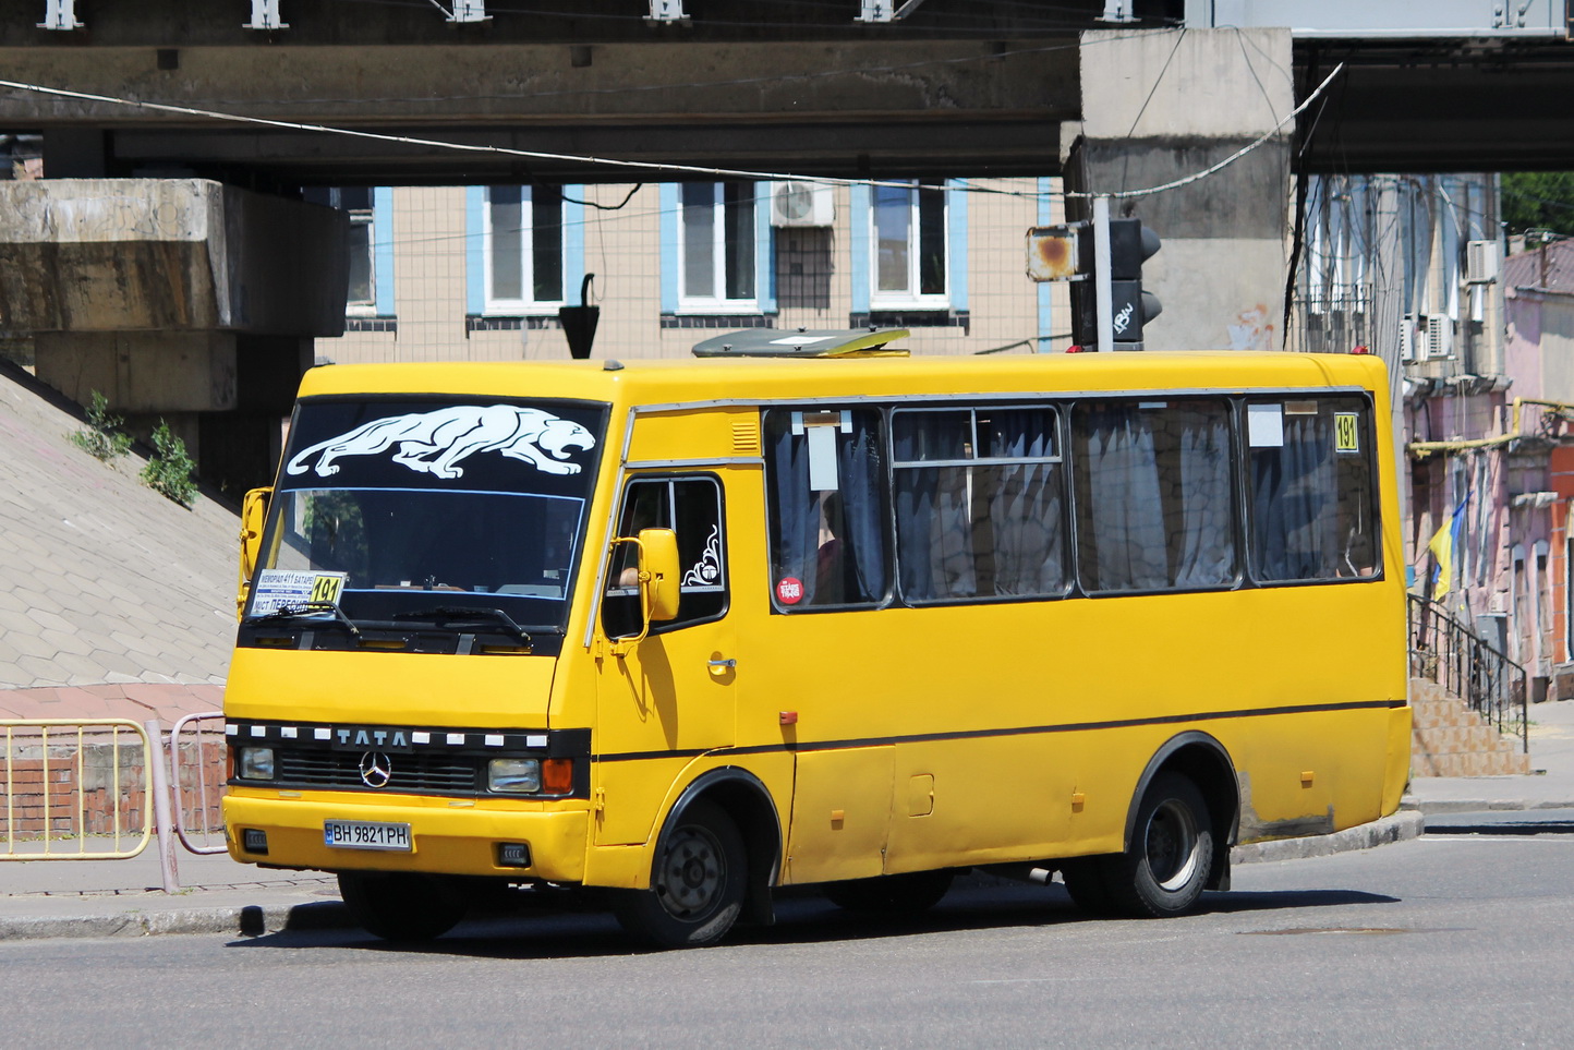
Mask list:
[[[1081,38],[1081,132],[1066,187],[1110,194],[1162,186],[1272,132],[1294,107],[1288,30],[1092,31]],[[1163,238],[1143,287],[1163,315],[1147,349],[1280,349],[1289,264],[1288,124],[1188,186],[1111,201]],[[1067,197],[1070,219],[1086,200]]]

